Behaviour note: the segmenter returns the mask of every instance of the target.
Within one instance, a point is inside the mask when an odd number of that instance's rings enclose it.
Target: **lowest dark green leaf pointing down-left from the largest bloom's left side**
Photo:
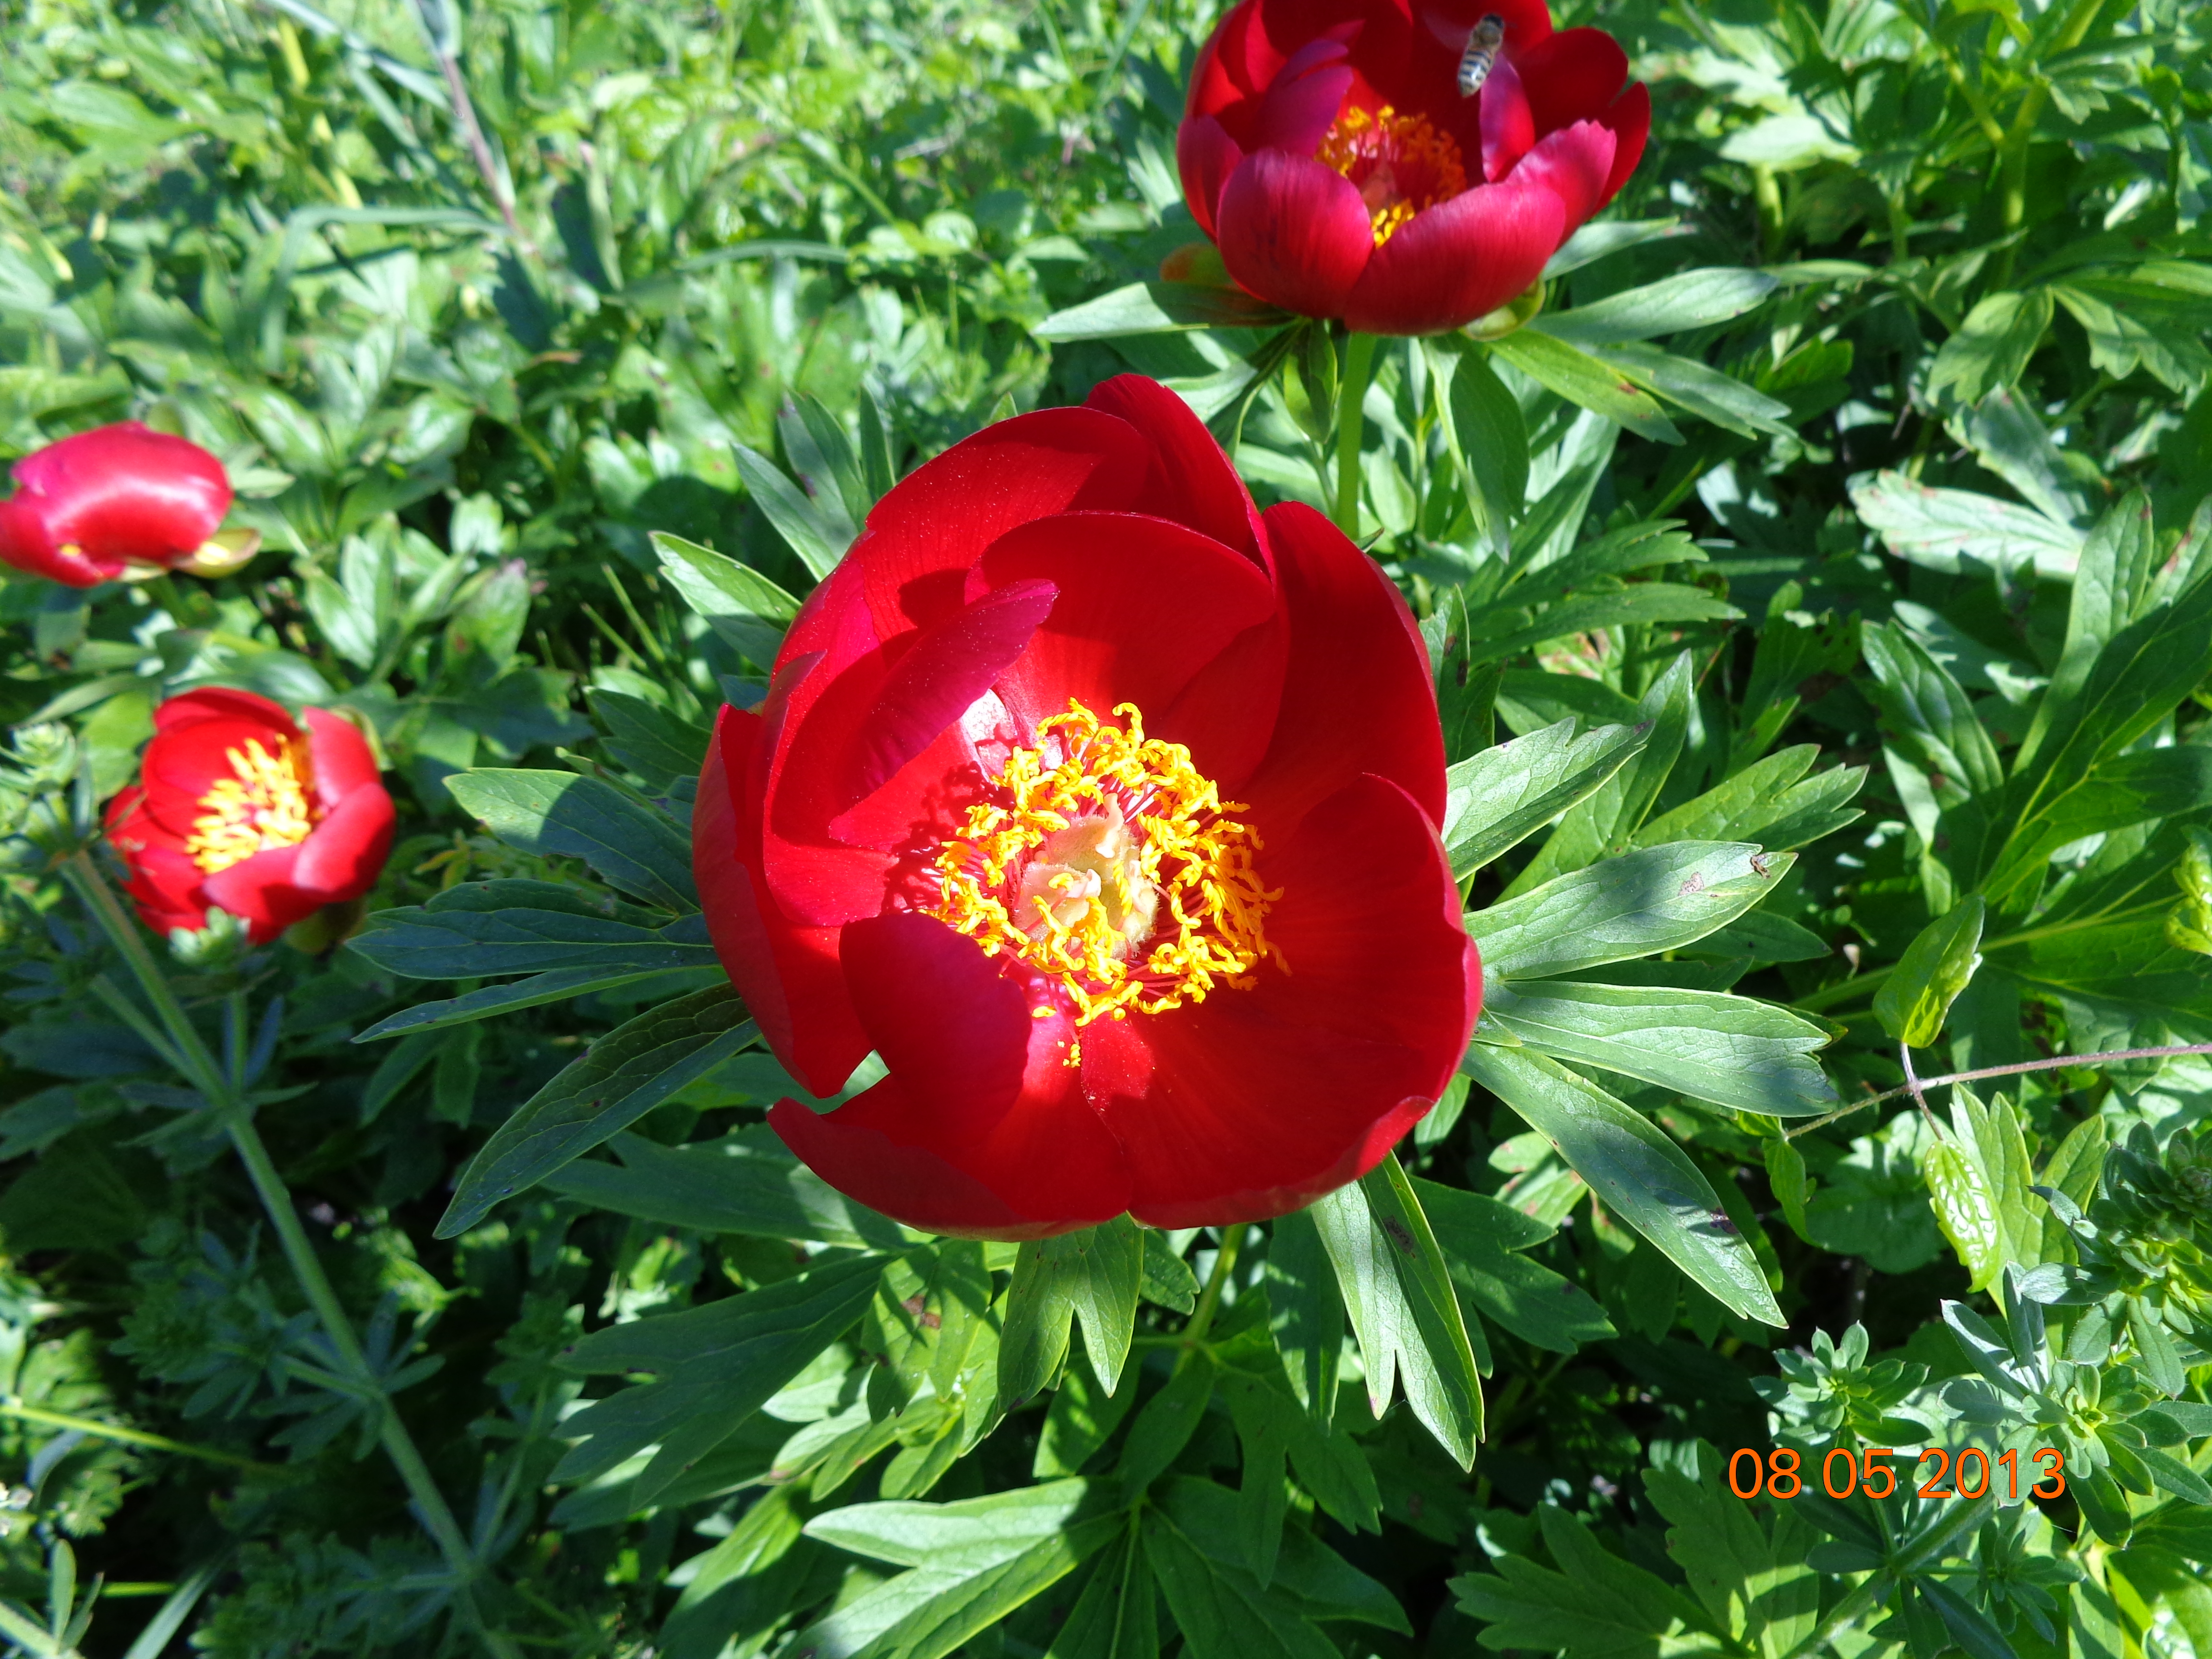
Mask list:
[[[759,1026],[745,1018],[745,1004],[728,984],[664,1002],[606,1033],[469,1159],[453,1203],[438,1221],[438,1237],[467,1232],[500,1199],[538,1186],[562,1164],[628,1128],[757,1035]]]

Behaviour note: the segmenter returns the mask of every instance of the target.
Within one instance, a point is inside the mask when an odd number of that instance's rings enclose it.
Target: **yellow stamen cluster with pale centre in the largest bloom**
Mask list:
[[[1283,953],[1267,945],[1267,891],[1252,869],[1259,834],[1230,814],[1190,750],[1144,734],[1135,703],[1099,721],[1068,712],[1037,745],[1006,757],[984,799],[936,856],[938,902],[925,907],[982,945],[1057,980],[1084,1026],[1166,1013]],[[1053,1009],[1037,1009],[1037,1018]]]

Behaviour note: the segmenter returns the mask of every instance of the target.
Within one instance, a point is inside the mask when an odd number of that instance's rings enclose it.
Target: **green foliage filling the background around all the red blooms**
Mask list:
[[[268,549],[0,588],[0,1641],[2212,1659],[2212,1062],[1900,1053],[2212,1042],[2188,0],[1562,9],[1641,170],[1363,405],[1489,971],[1402,1166],[1013,1250],[761,1126],[690,776],[876,495],[1135,367],[1334,500],[1338,343],[1144,285],[1210,22],[0,0],[0,458],[184,431]],[[347,947],[100,929],[199,684],[376,730]]]

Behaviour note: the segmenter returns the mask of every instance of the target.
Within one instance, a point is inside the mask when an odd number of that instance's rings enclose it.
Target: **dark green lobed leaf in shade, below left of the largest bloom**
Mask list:
[[[630,1491],[633,1506],[650,1504],[852,1329],[876,1294],[880,1270],[880,1256],[838,1261],[743,1296],[582,1338],[560,1356],[562,1369],[653,1380],[566,1418],[562,1438],[577,1444],[549,1478],[593,1480],[650,1447]]]

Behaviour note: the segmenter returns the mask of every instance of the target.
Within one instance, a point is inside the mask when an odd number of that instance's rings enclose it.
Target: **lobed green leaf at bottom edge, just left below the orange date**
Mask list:
[[[1451,1579],[1460,1610],[1484,1621],[1484,1648],[1531,1648],[1568,1659],[1674,1659],[1719,1652],[1701,1610],[1666,1579],[1606,1551],[1557,1504],[1537,1522],[1559,1571],[1502,1555],[1495,1573]]]

